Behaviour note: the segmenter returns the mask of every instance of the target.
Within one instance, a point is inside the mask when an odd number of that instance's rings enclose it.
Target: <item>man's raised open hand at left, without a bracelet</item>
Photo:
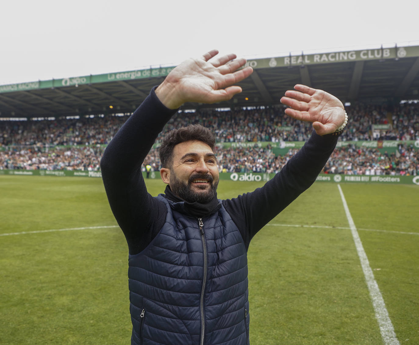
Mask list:
[[[217,54],[218,50],[211,50],[175,67],[155,90],[160,101],[167,108],[176,109],[185,102],[216,103],[241,93],[241,87],[233,84],[251,75],[252,67],[239,70],[246,59],[234,60],[235,54],[209,61]]]

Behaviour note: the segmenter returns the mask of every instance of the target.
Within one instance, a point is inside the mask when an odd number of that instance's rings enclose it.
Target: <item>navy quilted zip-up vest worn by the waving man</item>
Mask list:
[[[184,203],[157,198],[166,203],[166,223],[129,256],[131,343],[248,344],[247,254],[230,215],[221,206],[198,219]]]

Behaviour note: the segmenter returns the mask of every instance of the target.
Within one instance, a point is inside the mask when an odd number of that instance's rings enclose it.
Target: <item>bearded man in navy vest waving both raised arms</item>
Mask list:
[[[121,127],[101,169],[112,212],[128,242],[132,344],[249,343],[247,250],[252,237],[315,180],[345,121],[342,103],[304,85],[281,102],[313,134],[262,188],[219,200],[212,132],[170,131],[160,146],[167,184],[147,193],[141,165],[163,126],[185,102],[215,103],[241,92],[245,59],[212,50],[174,68]]]

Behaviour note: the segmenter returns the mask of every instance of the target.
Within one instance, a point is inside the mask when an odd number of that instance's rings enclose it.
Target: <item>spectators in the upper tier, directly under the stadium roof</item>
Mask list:
[[[419,104],[398,106],[347,107],[344,141],[419,140]],[[127,116],[56,119],[54,121],[0,121],[0,145],[73,145],[108,144]],[[183,112],[168,122],[163,132],[189,123],[213,129],[217,142],[305,141],[311,134],[310,123],[284,114],[283,106],[217,111],[202,109]],[[373,124],[389,125],[373,130]],[[157,139],[159,141],[160,137]]]

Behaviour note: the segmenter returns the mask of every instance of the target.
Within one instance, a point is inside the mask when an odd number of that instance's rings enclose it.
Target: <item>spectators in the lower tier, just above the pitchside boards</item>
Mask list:
[[[29,148],[0,151],[0,169],[85,170],[99,171],[103,147],[77,146],[56,149]],[[266,147],[215,148],[220,172],[277,173],[297,152],[290,149],[275,156]],[[151,149],[142,169],[150,164],[153,171],[161,168],[158,149]],[[419,150],[400,145],[395,153],[381,153],[370,147],[348,145],[336,148],[323,169],[324,173],[348,175],[418,175]]]

